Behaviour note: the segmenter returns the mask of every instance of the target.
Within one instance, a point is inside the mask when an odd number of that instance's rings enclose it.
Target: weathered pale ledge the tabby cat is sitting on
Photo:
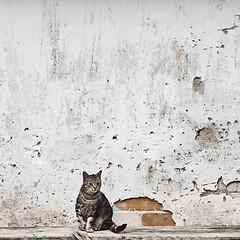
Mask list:
[[[74,236],[75,235],[75,236]],[[99,231],[86,234],[76,228],[0,228],[1,240],[202,240],[239,239],[240,226],[233,227],[141,227],[127,228],[121,234]]]

